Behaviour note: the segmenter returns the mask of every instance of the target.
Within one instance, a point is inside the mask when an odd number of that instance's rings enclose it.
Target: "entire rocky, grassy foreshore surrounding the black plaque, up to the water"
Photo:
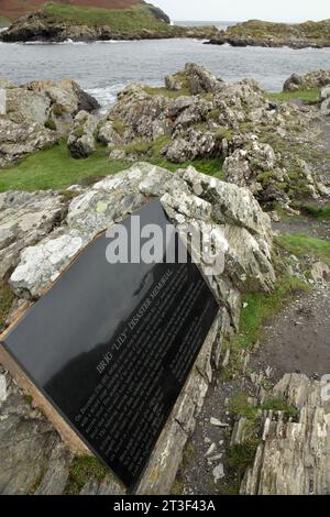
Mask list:
[[[270,94],[187,64],[100,114],[73,80],[1,81],[0,331],[150,197],[176,226],[224,229],[221,326],[141,494],[330,491],[329,85],[330,70],[294,74]],[[124,493],[1,366],[0,440],[2,494]]]

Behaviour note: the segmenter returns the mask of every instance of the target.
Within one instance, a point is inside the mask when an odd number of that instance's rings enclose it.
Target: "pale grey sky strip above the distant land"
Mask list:
[[[148,0],[173,20],[300,22],[330,18],[329,0]]]

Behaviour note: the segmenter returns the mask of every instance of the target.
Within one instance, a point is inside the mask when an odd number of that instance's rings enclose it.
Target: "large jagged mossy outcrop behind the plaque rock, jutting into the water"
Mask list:
[[[128,86],[98,131],[111,158],[222,158],[226,178],[272,208],[288,206],[300,193],[314,198],[324,193],[307,163],[288,152],[295,140],[299,144],[297,125],[306,131],[314,117],[304,107],[270,100],[254,80],[226,84],[187,64],[165,78],[164,89]]]

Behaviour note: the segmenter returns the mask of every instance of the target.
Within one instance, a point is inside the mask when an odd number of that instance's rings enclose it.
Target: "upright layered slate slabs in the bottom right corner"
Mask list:
[[[270,396],[270,395],[267,395]],[[329,384],[287,374],[272,392],[284,411],[262,419],[262,442],[241,487],[248,495],[328,495],[330,492]],[[297,408],[288,418],[285,406]],[[243,427],[241,426],[241,429]]]

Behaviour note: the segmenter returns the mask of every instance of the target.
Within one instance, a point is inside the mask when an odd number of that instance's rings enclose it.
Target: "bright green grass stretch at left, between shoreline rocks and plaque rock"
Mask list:
[[[12,167],[0,170],[0,191],[65,189],[70,185],[116,174],[127,168],[123,161],[110,161],[106,147],[86,160],[69,156],[66,144],[31,154]]]

